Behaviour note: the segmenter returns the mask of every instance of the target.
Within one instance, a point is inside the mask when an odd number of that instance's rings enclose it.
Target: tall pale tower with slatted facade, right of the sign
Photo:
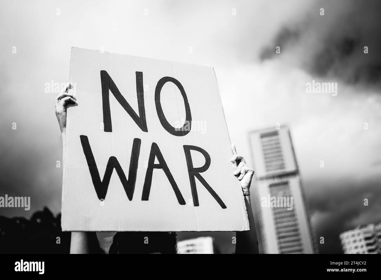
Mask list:
[[[254,180],[252,198],[263,248],[272,254],[317,253],[315,234],[287,126],[249,133]]]

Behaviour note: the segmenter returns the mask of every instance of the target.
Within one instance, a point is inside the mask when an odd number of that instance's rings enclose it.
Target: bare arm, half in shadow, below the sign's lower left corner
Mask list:
[[[96,232],[71,233],[70,254],[96,254],[101,253]]]

